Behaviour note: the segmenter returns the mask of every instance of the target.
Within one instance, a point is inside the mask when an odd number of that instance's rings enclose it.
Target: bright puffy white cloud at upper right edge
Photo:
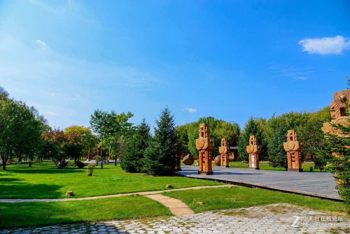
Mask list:
[[[342,54],[342,51],[350,47],[350,40],[343,36],[304,39],[299,41],[303,51],[309,54]]]

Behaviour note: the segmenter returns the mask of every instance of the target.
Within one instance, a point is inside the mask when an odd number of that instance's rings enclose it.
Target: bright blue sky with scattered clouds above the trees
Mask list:
[[[153,126],[329,105],[350,75],[349,1],[0,1],[0,85],[50,126],[94,109]]]

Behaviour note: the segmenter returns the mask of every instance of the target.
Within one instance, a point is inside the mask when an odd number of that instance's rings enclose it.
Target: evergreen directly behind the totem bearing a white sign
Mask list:
[[[249,137],[255,135],[258,138],[258,144],[261,145],[261,156],[262,158],[266,155],[266,144],[264,143],[264,137],[262,135],[262,130],[258,127],[258,122],[255,118],[250,117],[248,122],[245,124],[243,131],[240,134],[240,139],[238,140],[238,155],[241,160],[248,163],[248,153],[247,145],[249,145]],[[260,158],[260,157],[259,157]]]

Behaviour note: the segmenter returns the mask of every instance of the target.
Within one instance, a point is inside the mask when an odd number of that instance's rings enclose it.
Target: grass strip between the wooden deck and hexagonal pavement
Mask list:
[[[327,212],[347,214],[350,212],[350,206],[345,205],[343,202],[243,186],[236,186],[235,188],[222,187],[169,191],[162,194],[182,200],[196,213],[216,209],[259,206],[281,202]],[[204,205],[197,204],[198,201],[204,202]]]

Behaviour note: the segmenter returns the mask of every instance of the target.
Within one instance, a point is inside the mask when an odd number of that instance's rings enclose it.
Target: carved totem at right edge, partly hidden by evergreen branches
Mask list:
[[[333,128],[333,126],[331,124],[341,124],[341,125],[345,125],[347,123],[347,121],[349,121],[349,117],[346,116],[345,113],[345,108],[346,105],[345,103],[349,104],[349,100],[350,100],[350,89],[346,89],[346,90],[342,90],[339,92],[335,92],[333,94],[334,100],[332,101],[332,104],[329,105],[330,109],[331,109],[331,117],[332,117],[332,121],[329,123],[323,123],[323,128],[322,131],[323,132],[330,132],[334,135],[338,135],[338,136],[342,136],[342,137],[349,137],[349,136],[345,136],[341,133],[340,130],[336,130]],[[333,153],[333,156],[335,157],[342,157],[341,155],[338,155],[336,153]],[[341,183],[341,181],[337,180],[337,185],[335,186],[336,189],[338,189],[338,185]]]

